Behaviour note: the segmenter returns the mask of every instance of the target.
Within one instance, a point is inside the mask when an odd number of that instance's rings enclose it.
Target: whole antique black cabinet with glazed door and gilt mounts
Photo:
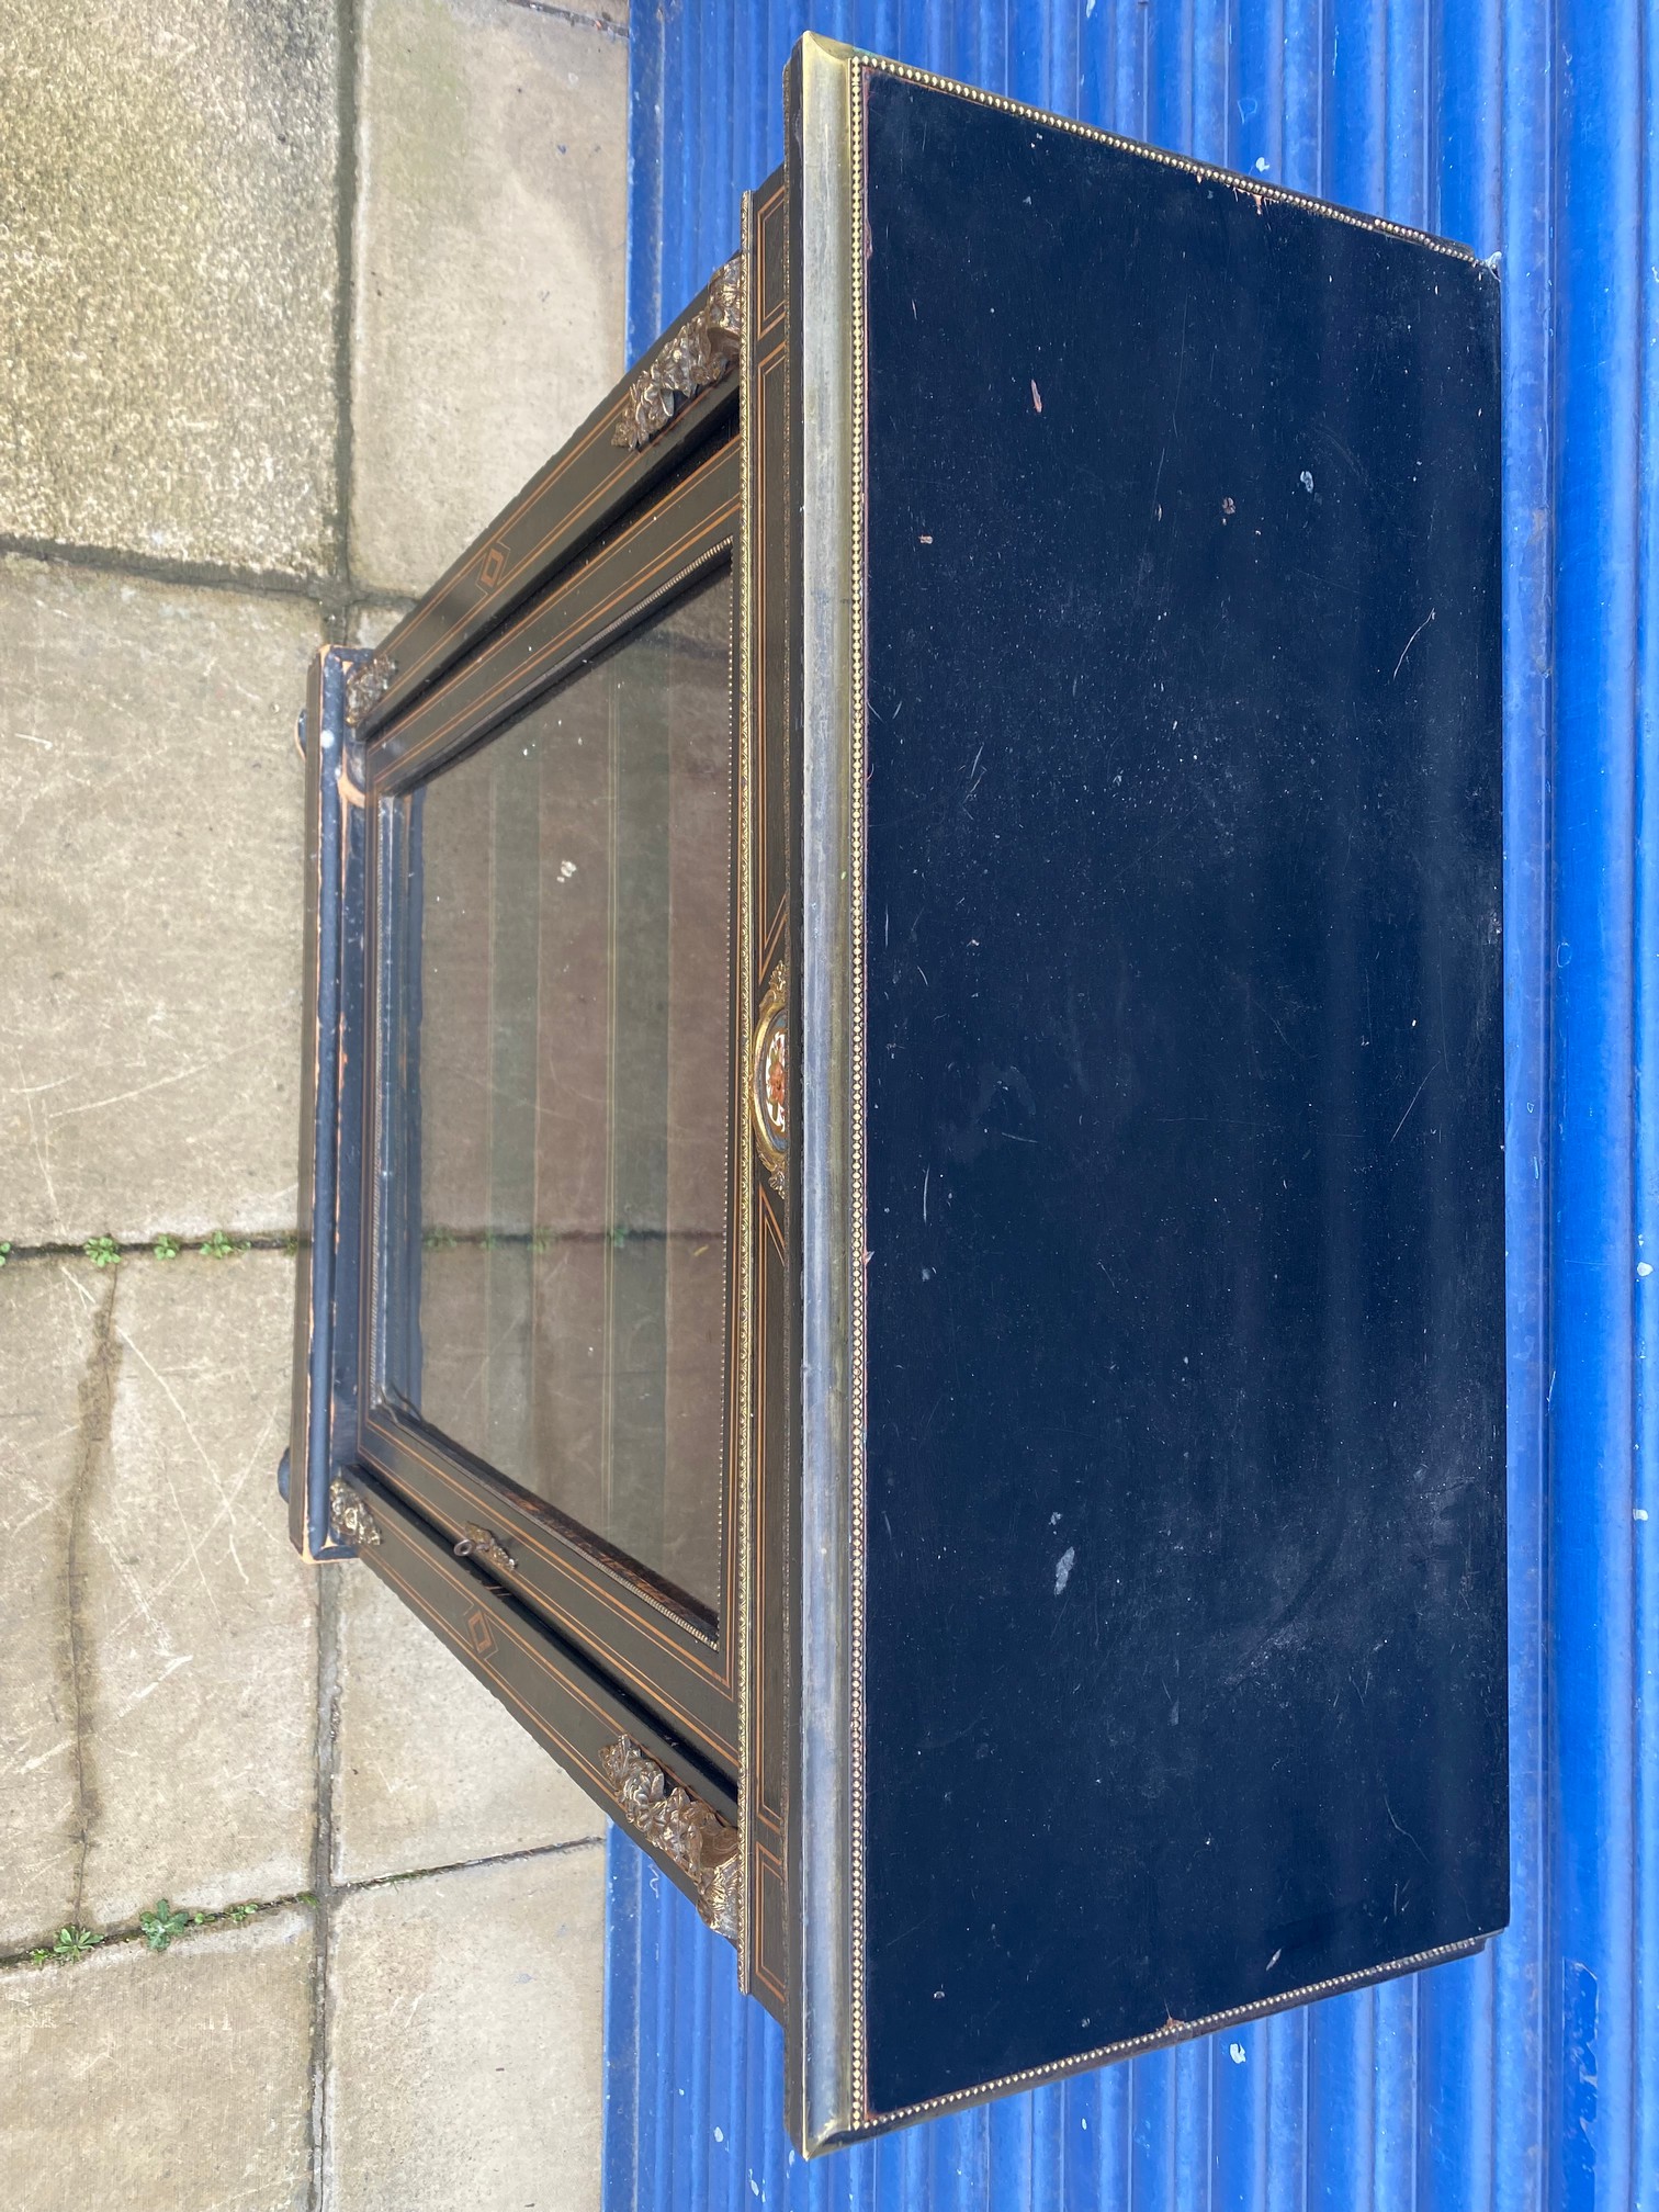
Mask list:
[[[303,717],[290,1531],[803,2152],[1506,1920],[1498,276],[807,38]]]

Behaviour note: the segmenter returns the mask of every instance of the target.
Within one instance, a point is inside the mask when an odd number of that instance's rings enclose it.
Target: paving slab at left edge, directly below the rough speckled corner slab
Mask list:
[[[0,560],[0,1237],[294,1225],[305,599]]]

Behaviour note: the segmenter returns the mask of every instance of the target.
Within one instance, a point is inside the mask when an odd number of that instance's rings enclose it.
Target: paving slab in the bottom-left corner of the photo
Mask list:
[[[310,2042],[312,1916],[292,1907],[159,1955],[0,1971],[0,2203],[303,2212]]]

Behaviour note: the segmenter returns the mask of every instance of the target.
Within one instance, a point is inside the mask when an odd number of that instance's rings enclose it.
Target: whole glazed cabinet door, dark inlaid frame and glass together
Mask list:
[[[367,748],[358,1455],[737,1772],[739,458]]]

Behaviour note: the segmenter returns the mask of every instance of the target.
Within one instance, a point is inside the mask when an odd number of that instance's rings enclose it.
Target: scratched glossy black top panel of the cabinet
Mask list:
[[[1506,1918],[1498,283],[874,77],[876,2110]]]

